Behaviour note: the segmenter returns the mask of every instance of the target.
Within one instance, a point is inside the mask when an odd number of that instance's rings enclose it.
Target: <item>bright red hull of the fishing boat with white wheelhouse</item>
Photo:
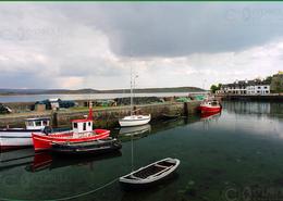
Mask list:
[[[40,134],[33,134],[33,142],[35,151],[48,150],[52,148],[52,142],[85,142],[97,139],[108,138],[110,130],[95,129],[89,136],[75,136],[73,131],[70,133],[57,133],[48,136]]]

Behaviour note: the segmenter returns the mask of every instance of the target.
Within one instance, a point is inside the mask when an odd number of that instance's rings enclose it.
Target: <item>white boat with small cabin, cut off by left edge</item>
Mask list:
[[[49,126],[50,118],[26,118],[25,128],[0,128],[0,150],[33,146],[32,133],[42,131]]]

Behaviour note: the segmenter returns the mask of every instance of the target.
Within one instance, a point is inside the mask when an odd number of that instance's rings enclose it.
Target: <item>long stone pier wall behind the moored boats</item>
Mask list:
[[[189,102],[163,102],[151,104],[135,105],[140,109],[138,112],[143,114],[151,114],[152,121],[162,117],[163,113],[176,114],[180,113],[184,116],[197,112],[197,106],[200,101]],[[94,121],[96,127],[111,128],[118,126],[118,120],[131,113],[131,106],[108,106],[108,108],[94,108]],[[52,127],[69,127],[70,122],[74,118],[82,118],[88,114],[88,109],[82,110],[59,110],[59,111],[45,111],[45,112],[21,112],[13,114],[0,115],[0,127],[24,126],[24,120],[30,117],[50,117]]]

